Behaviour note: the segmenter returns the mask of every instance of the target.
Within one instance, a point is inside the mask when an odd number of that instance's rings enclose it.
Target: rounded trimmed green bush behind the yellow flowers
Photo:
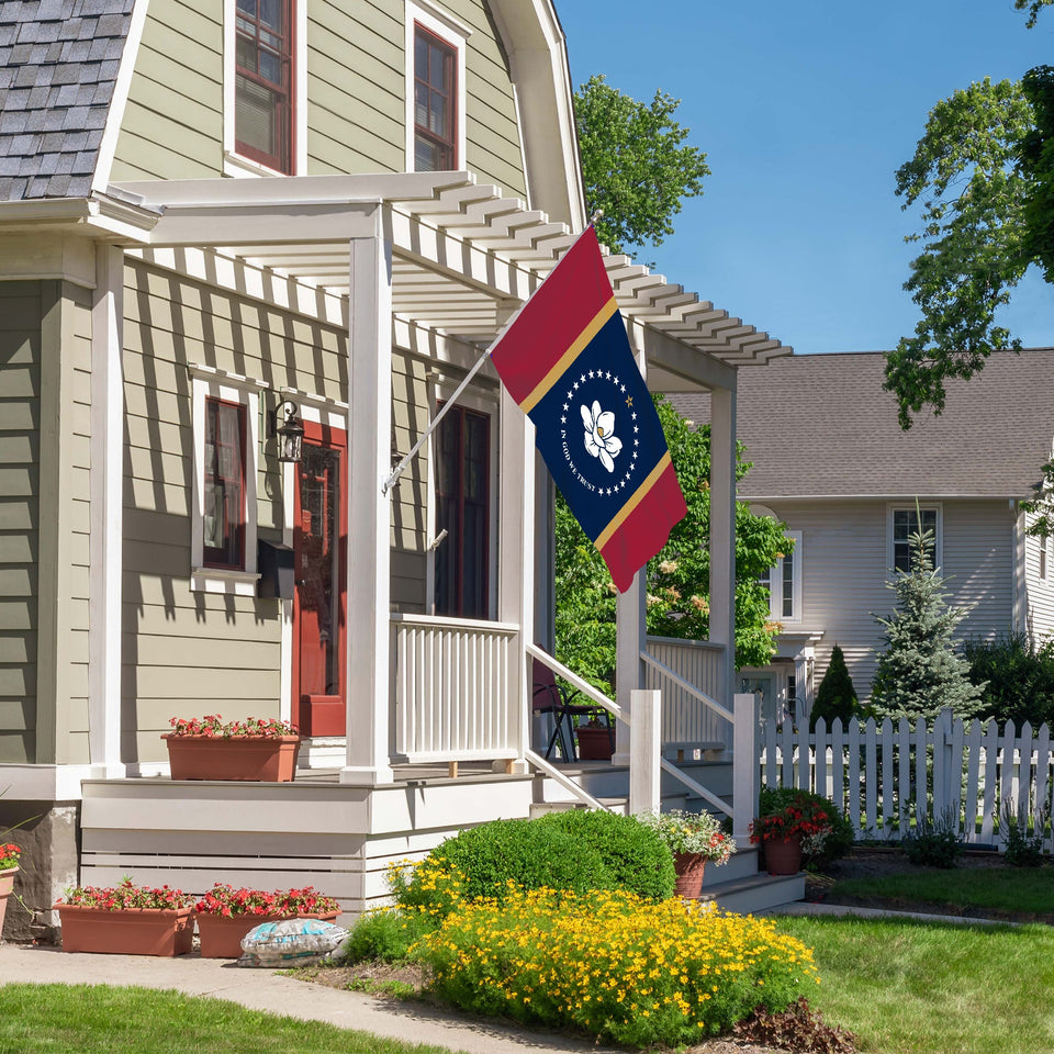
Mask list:
[[[440,915],[459,898],[501,899],[511,884],[629,889],[648,899],[669,897],[674,884],[673,857],[655,831],[633,817],[580,809],[482,823],[447,839],[424,863],[395,889],[396,899]]]

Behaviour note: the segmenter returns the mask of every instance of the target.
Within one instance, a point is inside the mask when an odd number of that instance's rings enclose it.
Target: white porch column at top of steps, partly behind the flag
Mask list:
[[[535,633],[535,426],[504,384],[498,440],[497,618],[519,626],[519,647],[509,670],[508,715],[516,745],[512,771],[525,773],[532,716],[524,644],[534,643]]]

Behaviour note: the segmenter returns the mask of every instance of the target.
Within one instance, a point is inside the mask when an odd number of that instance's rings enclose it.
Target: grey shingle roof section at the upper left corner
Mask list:
[[[134,0],[0,0],[0,201],[80,198]]]

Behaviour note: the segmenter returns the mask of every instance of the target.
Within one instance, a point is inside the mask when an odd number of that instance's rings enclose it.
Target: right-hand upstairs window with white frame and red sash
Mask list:
[[[406,5],[407,166],[450,171],[464,160],[464,43],[471,30],[437,5],[421,3]]]

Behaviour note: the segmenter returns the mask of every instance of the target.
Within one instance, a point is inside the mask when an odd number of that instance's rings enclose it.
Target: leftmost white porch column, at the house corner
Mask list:
[[[88,758],[96,773],[121,764],[121,562],[124,538],[124,250],[96,250],[91,306],[91,512],[88,541]]]

